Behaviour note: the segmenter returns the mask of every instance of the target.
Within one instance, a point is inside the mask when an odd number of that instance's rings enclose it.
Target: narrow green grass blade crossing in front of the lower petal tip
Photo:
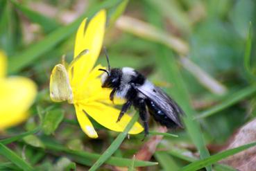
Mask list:
[[[117,136],[117,138],[111,143],[110,147],[101,155],[101,157],[92,165],[92,168],[89,168],[89,171],[94,171],[98,169],[106,160],[110,158],[112,154],[118,149],[119,145],[123,142],[124,138],[126,138],[128,132],[136,123],[139,118],[139,114],[135,114],[133,118],[130,120],[126,128]]]

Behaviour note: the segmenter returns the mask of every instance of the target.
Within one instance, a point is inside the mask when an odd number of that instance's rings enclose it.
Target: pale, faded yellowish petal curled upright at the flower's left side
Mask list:
[[[50,97],[53,102],[68,100],[73,102],[72,90],[69,84],[69,76],[65,66],[57,64],[51,71]]]

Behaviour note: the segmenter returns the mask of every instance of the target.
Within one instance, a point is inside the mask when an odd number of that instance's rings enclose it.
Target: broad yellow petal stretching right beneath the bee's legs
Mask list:
[[[111,129],[115,132],[123,132],[123,129],[126,128],[126,125],[130,121],[130,116],[128,114],[124,114],[123,118],[117,123],[117,118],[119,116],[120,111],[114,109],[113,107],[109,107],[107,105],[103,105],[100,102],[90,102],[83,105],[83,109],[86,113],[94,118],[96,122]],[[135,123],[133,128],[130,129],[129,134],[139,134],[144,129],[142,125],[139,123]]]

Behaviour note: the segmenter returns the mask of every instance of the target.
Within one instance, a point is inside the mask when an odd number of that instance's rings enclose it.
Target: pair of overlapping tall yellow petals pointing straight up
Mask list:
[[[74,64],[74,78],[71,83],[74,86],[76,83],[80,82],[80,80],[87,77],[99,57],[105,33],[105,21],[106,12],[105,10],[101,10],[89,21],[86,30],[86,19],[78,28],[74,57],[85,49],[88,49],[89,53],[85,54],[85,56],[81,57],[81,59]]]

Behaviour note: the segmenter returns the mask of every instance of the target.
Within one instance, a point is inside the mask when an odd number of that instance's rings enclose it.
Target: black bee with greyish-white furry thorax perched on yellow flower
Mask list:
[[[183,127],[180,116],[184,114],[184,111],[167,93],[148,81],[142,73],[135,71],[135,69],[130,67],[111,69],[105,48],[104,52],[108,62],[108,70],[99,69],[104,72],[101,75],[101,87],[112,89],[110,100],[113,101],[114,96],[126,100],[121,107],[117,122],[133,106],[139,111],[139,117],[143,121],[144,138],[148,134],[148,113],[160,125],[167,128]]]

